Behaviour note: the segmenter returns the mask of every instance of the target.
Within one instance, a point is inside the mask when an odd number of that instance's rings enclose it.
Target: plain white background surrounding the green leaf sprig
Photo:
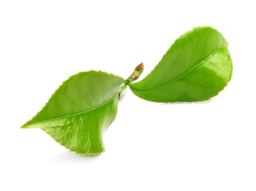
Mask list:
[[[0,1],[0,190],[256,190],[253,1]],[[233,76],[210,101],[156,104],[132,95],[81,156],[21,129],[68,76],[146,76],[174,40],[212,26],[230,43]]]

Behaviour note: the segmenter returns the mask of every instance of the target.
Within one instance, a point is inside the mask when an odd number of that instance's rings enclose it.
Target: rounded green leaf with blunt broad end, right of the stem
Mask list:
[[[203,101],[217,95],[232,76],[227,41],[204,26],[179,37],[146,78],[130,89],[155,102]]]

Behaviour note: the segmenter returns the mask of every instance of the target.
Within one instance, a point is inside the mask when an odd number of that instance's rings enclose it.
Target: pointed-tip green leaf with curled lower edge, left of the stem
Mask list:
[[[113,122],[124,79],[89,71],[71,76],[22,128],[40,128],[61,145],[81,154],[104,151],[102,134]]]

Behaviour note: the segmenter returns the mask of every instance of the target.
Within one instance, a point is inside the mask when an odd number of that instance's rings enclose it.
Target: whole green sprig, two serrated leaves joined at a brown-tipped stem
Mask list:
[[[227,41],[216,29],[197,27],[179,37],[141,82],[88,71],[71,76],[22,128],[40,128],[61,145],[80,154],[104,151],[102,134],[115,120],[118,93],[127,85],[154,102],[203,101],[217,95],[232,76]],[[137,75],[137,76],[136,76]],[[120,91],[121,90],[121,91]]]

